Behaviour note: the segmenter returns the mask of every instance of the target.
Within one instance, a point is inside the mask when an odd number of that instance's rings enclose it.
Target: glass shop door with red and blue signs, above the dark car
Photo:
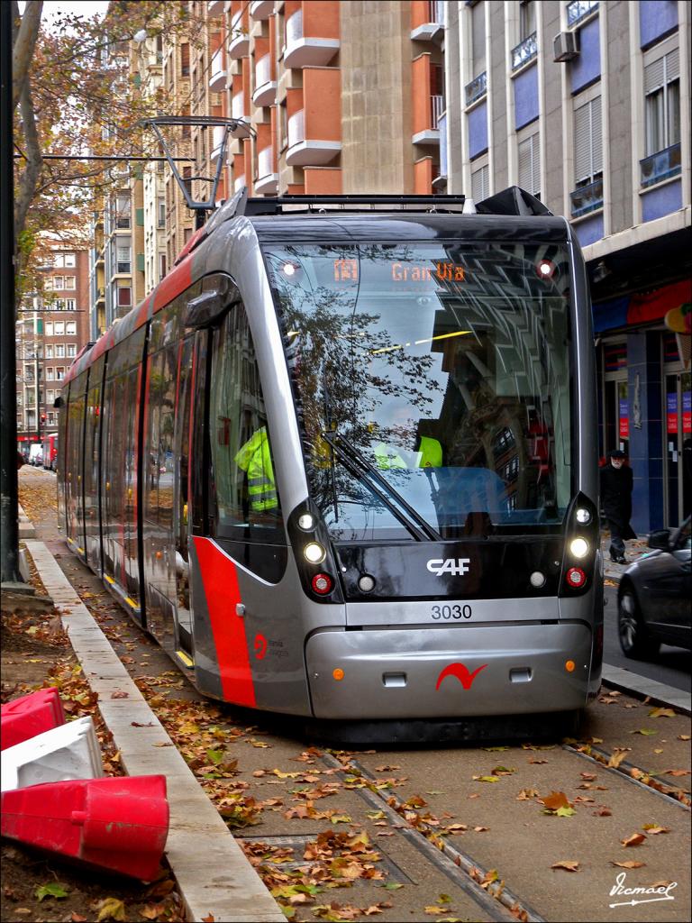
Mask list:
[[[679,525],[692,511],[692,373],[665,377],[666,525]]]

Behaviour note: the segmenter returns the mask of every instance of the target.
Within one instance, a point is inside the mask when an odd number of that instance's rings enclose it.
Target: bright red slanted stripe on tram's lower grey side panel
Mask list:
[[[208,538],[195,538],[194,542],[219,660],[223,698],[239,705],[255,705],[245,619],[235,614],[235,606],[241,601],[235,565]]]

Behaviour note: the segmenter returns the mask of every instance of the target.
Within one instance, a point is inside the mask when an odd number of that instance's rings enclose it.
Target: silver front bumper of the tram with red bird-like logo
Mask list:
[[[326,719],[561,712],[587,703],[591,629],[551,625],[317,631],[305,648]]]

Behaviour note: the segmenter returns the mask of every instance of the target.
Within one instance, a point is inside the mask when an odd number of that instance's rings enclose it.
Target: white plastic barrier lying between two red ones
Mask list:
[[[3,750],[0,789],[4,792],[42,782],[99,779],[101,748],[91,718],[79,718]]]

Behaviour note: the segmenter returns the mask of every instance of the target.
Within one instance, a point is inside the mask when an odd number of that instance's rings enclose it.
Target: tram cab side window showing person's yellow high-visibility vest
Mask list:
[[[214,332],[209,393],[209,514],[220,538],[283,542],[259,368],[236,306]]]

